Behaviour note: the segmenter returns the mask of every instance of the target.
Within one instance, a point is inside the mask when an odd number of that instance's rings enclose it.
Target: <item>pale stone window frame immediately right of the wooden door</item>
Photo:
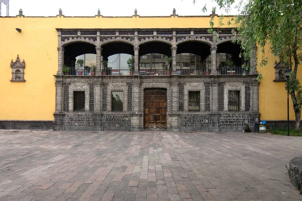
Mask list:
[[[184,85],[184,112],[189,112],[189,91],[199,91],[199,112],[205,111],[205,86],[203,82],[190,83]],[[193,112],[192,112],[193,113]],[[196,113],[196,112],[194,112]]]

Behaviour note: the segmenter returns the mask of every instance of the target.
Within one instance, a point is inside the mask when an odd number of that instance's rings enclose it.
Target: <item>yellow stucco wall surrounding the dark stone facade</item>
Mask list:
[[[225,20],[225,27],[226,21]],[[217,22],[217,21],[216,21]],[[217,24],[217,23],[215,23]],[[209,17],[5,17],[0,18],[0,120],[53,120],[58,40],[55,28],[208,28]],[[20,28],[21,33],[15,28]],[[11,82],[10,62],[24,59],[26,82]],[[261,119],[286,119],[283,82],[273,82],[275,58],[261,70]],[[300,76],[300,78],[302,78]],[[292,104],[291,104],[292,105]],[[294,118],[291,106],[291,119]]]

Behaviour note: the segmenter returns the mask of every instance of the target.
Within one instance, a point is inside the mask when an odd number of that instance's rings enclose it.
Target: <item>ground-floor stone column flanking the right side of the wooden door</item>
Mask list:
[[[179,113],[178,113],[178,105],[179,105],[179,81],[177,78],[172,78],[170,81],[170,90],[171,94],[171,106],[169,113],[169,128],[173,131],[179,131]]]

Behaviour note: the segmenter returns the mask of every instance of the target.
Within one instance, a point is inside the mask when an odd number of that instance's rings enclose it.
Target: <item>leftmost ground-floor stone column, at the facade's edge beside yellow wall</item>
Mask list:
[[[64,116],[63,113],[63,82],[62,76],[56,76],[55,82],[55,112],[54,116],[54,128],[55,131],[64,130]]]

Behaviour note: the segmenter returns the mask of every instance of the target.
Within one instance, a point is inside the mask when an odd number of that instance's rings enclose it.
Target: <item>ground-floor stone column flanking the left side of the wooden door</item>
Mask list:
[[[136,79],[132,83],[132,111],[131,116],[131,131],[141,131],[141,113],[140,113],[140,89],[141,83]]]

